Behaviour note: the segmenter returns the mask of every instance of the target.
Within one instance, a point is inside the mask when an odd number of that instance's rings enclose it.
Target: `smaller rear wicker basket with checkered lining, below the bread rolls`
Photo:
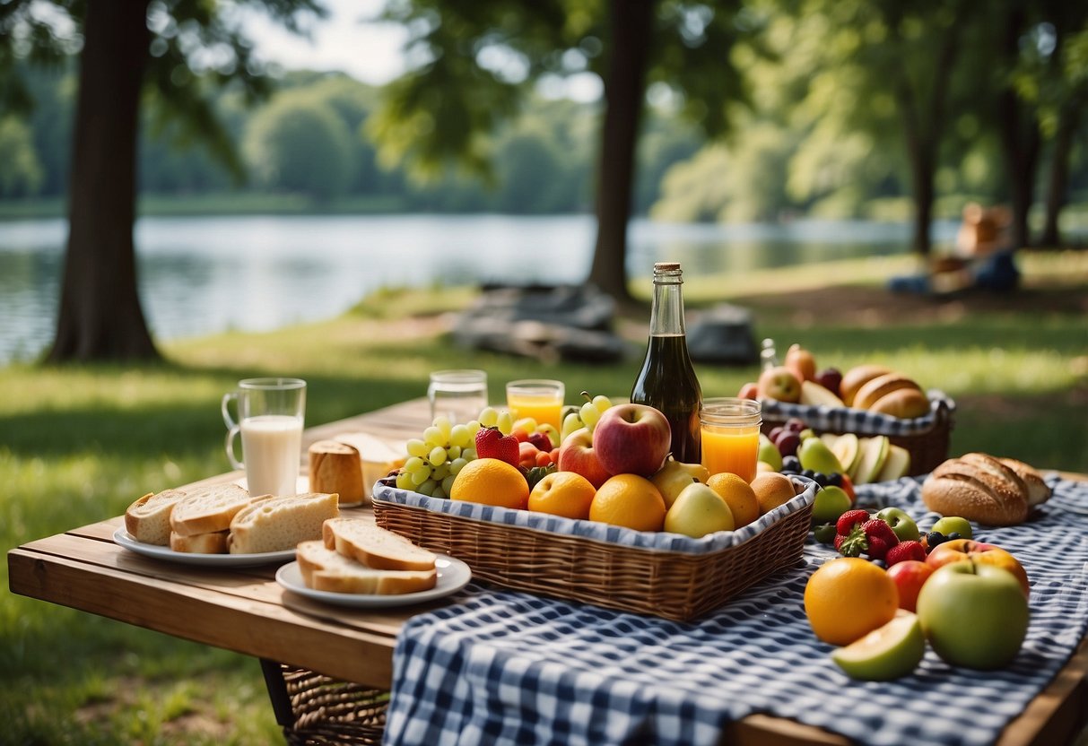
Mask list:
[[[774,399],[763,400],[763,432],[770,432],[791,418],[798,418],[813,431],[824,433],[854,433],[858,437],[886,435],[897,446],[911,453],[908,474],[928,474],[949,457],[949,438],[955,402],[942,391],[928,391],[929,412],[919,418],[903,420],[848,407],[793,405]]]

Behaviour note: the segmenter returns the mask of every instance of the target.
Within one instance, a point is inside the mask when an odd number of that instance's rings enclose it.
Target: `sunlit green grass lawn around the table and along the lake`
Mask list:
[[[934,300],[887,294],[910,259],[689,278],[689,315],[722,300],[752,310],[757,337],[799,341],[820,366],[882,362],[957,402],[953,453],[985,450],[1088,472],[1088,253],[1023,258],[1012,297]],[[120,514],[149,490],[225,471],[223,391],[254,375],[309,382],[319,424],[421,396],[440,368],[506,381],[544,376],[569,391],[626,396],[641,360],[648,281],[618,330],[630,356],[609,365],[544,364],[460,349],[447,337],[463,289],[364,299],[323,323],[269,334],[164,343],[154,365],[0,369],[0,547]],[[707,396],[756,369],[698,365]],[[570,398],[570,397],[568,397]],[[8,593],[0,570],[2,743],[275,742],[256,660]]]

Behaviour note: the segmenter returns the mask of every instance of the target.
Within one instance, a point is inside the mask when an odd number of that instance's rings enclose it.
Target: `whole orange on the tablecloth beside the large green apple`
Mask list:
[[[899,608],[899,589],[887,572],[860,557],[819,567],[805,585],[805,613],[816,636],[850,645],[883,626]]]

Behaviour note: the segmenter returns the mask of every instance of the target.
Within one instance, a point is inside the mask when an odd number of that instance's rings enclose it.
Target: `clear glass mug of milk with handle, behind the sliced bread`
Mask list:
[[[237,421],[230,403],[237,408]],[[249,494],[295,495],[302,460],[302,420],[306,382],[301,378],[246,378],[223,395],[226,423],[226,457],[231,465],[245,470]],[[234,438],[242,434],[239,461]]]

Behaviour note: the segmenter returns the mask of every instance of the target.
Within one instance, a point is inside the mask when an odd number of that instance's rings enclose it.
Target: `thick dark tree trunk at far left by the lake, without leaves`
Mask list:
[[[133,243],[147,0],[85,8],[67,253],[48,360],[157,358],[140,308]]]

